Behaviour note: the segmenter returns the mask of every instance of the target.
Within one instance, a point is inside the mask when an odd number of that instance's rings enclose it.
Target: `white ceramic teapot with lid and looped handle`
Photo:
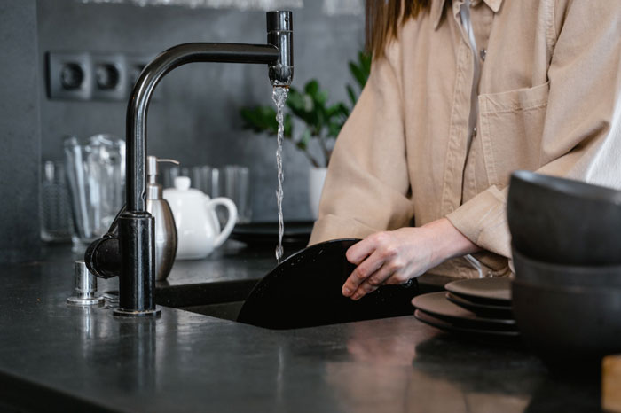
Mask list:
[[[231,199],[209,199],[203,192],[190,188],[190,178],[177,176],[175,188],[164,190],[177,227],[177,260],[200,260],[222,245],[237,222],[237,207]],[[229,216],[224,229],[216,215],[222,205]]]

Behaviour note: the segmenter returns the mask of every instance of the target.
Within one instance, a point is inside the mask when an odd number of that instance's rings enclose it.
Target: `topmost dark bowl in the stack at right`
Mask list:
[[[538,261],[621,263],[621,191],[516,171],[507,218],[515,247]]]

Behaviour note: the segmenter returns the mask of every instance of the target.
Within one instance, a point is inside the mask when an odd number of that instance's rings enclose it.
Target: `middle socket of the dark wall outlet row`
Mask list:
[[[125,100],[127,93],[127,65],[121,53],[92,53],[93,100]]]

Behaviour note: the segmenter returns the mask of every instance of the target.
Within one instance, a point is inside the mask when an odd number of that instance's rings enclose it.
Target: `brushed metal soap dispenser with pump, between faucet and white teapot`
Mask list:
[[[172,264],[177,255],[177,227],[170,210],[169,202],[163,199],[161,185],[156,182],[159,173],[158,163],[169,162],[176,165],[177,160],[163,160],[154,156],[146,157],[146,210],[153,215],[155,235],[155,279],[163,281],[169,277]]]

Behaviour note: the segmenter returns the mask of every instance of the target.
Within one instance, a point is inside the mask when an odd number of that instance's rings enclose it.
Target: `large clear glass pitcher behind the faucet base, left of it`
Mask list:
[[[88,245],[106,233],[125,194],[125,143],[109,135],[88,144],[65,139],[65,166],[71,195],[74,243]]]

